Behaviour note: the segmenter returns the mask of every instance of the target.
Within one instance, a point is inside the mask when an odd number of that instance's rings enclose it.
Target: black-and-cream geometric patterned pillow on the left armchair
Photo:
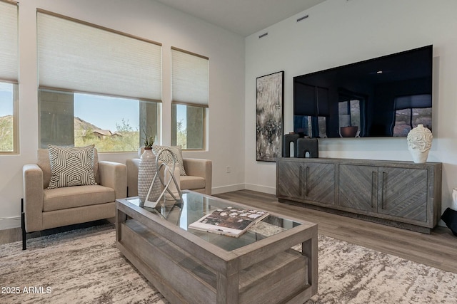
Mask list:
[[[94,147],[48,145],[51,180],[48,189],[95,185]]]

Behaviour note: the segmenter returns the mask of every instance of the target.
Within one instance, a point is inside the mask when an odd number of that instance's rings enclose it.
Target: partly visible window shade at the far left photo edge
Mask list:
[[[0,80],[18,83],[18,7],[15,2],[0,1]]]

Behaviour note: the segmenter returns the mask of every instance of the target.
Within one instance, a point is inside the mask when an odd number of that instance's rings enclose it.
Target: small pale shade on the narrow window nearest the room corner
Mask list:
[[[209,59],[171,48],[171,98],[174,103],[208,107]]]

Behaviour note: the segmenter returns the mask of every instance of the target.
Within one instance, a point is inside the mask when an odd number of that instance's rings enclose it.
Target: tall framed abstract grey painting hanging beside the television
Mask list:
[[[284,71],[257,78],[256,160],[281,157],[283,138]]]

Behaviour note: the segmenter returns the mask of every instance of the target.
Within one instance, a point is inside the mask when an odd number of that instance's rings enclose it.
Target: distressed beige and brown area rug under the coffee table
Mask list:
[[[0,303],[168,303],[116,248],[113,226],[0,246]],[[457,303],[457,275],[319,235],[313,303]],[[202,303],[203,304],[203,303]]]

